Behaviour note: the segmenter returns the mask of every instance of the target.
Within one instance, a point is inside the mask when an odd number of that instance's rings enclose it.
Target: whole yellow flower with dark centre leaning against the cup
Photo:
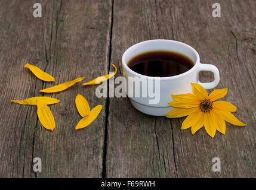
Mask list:
[[[193,93],[171,95],[174,99],[168,105],[175,107],[165,116],[167,118],[180,118],[187,116],[181,125],[181,129],[191,127],[192,134],[205,126],[205,131],[213,138],[216,130],[225,134],[225,121],[233,125],[245,126],[232,113],[236,106],[229,102],[215,101],[226,96],[227,88],[214,90],[211,94],[199,84],[191,83]]]

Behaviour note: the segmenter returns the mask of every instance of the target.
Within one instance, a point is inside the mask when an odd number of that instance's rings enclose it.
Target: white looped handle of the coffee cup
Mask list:
[[[211,71],[214,74],[214,81],[212,81],[211,83],[201,83],[199,81],[199,72],[200,71]],[[198,67],[198,84],[202,85],[203,88],[205,89],[211,89],[214,88],[218,85],[218,83],[220,82],[220,72],[218,71],[218,68],[214,65],[211,64],[199,64]]]

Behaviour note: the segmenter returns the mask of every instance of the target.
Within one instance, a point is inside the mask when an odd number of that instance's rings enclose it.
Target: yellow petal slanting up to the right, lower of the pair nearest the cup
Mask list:
[[[90,125],[91,122],[93,122],[98,114],[100,113],[101,109],[102,109],[102,105],[98,105],[98,106],[95,106],[91,112],[90,112],[90,115],[88,116],[85,116],[84,118],[82,118],[79,122],[78,122],[78,125],[76,125],[76,130],[78,129],[82,129],[82,128],[85,128],[86,126]]]

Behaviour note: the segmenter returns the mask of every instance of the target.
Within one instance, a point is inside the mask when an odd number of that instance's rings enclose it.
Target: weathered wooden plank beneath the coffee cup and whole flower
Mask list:
[[[110,99],[107,177],[255,178],[255,1],[220,1],[221,18],[212,17],[213,3],[115,1],[111,61],[121,67],[125,49],[143,40],[187,43],[202,63],[218,67],[217,88],[229,88],[223,100],[236,105],[235,116],[248,125],[226,123],[225,136],[217,132],[211,138],[205,129],[193,136],[190,129],[180,130],[184,118],[147,116],[128,99]],[[203,72],[200,78],[205,82],[212,76]],[[221,160],[221,172],[212,172],[214,157]]]

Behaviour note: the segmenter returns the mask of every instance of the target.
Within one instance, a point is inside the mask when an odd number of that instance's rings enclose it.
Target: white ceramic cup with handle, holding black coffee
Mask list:
[[[138,74],[128,67],[128,62],[137,55],[152,51],[169,51],[186,55],[195,64],[182,74],[171,77],[149,77]],[[192,93],[190,83],[205,85],[206,89],[218,84],[218,69],[214,65],[200,64],[198,52],[185,43],[174,40],[149,40],[129,47],[122,56],[122,69],[127,81],[127,96],[132,106],[140,112],[153,116],[164,116],[173,107],[168,105],[173,99],[171,94]],[[215,80],[211,83],[200,83],[199,71],[214,72]]]

